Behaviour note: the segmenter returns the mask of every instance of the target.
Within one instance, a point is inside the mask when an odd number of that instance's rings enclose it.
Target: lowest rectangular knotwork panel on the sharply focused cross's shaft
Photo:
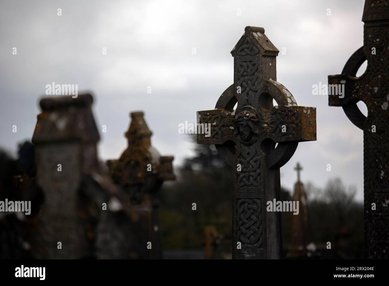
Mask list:
[[[261,248],[262,218],[261,201],[242,198],[237,201],[237,241],[242,248]]]

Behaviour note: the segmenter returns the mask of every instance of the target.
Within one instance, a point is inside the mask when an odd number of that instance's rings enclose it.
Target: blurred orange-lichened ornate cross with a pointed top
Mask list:
[[[158,191],[163,181],[174,180],[173,156],[161,156],[151,146],[151,135],[143,112],[131,112],[125,136],[128,147],[119,160],[108,160],[112,180],[130,196],[132,204],[151,209],[151,258],[162,258]]]

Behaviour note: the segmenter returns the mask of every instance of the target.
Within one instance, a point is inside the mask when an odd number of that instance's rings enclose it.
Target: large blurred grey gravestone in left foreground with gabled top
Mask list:
[[[40,101],[32,142],[44,202],[28,217],[34,258],[149,258],[144,212],[99,172],[91,95]]]

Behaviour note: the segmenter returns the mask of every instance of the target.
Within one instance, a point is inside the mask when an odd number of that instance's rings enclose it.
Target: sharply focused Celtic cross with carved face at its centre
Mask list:
[[[197,122],[211,126],[210,136],[200,133],[197,142],[215,144],[233,171],[232,255],[237,259],[281,258],[280,214],[266,212],[266,202],[279,199],[279,168],[298,142],[316,140],[316,109],[297,106],[277,82],[278,53],[263,28],[246,27],[231,51],[234,83],[214,110],[197,112]]]

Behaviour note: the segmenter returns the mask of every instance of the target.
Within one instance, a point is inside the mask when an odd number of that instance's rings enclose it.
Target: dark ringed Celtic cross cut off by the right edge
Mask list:
[[[346,62],[342,74],[329,75],[329,105],[341,106],[363,130],[365,258],[389,258],[389,1],[366,0],[363,47]],[[358,68],[367,60],[363,75]],[[344,87],[334,94],[335,87]],[[338,88],[339,90],[339,88]],[[363,101],[364,116],[357,107]]]

